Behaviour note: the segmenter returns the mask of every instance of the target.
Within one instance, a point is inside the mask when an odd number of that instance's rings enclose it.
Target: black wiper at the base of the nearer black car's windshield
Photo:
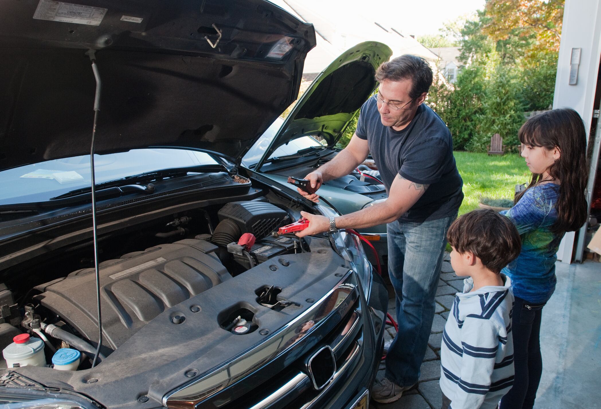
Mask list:
[[[199,165],[199,166],[188,166],[188,167],[177,167],[162,170],[153,170],[153,172],[139,173],[138,175],[126,176],[125,178],[115,179],[114,181],[102,182],[96,184],[96,193],[98,197],[102,197],[102,191],[106,190],[106,194],[109,196],[121,196],[129,193],[153,193],[154,185],[150,182],[159,181],[167,178],[177,178],[180,176],[186,176],[188,173],[218,173],[228,172],[222,165]],[[139,184],[148,184],[147,186],[141,186]],[[118,190],[112,190],[109,192],[109,188],[119,188]],[[51,197],[50,200],[67,199],[68,197],[80,196],[91,193],[92,188],[90,186],[80,189],[71,190],[67,193],[63,193],[56,197]]]

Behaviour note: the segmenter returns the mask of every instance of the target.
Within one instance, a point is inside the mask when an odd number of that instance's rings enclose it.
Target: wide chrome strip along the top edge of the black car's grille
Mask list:
[[[338,293],[340,291],[344,291],[348,293],[346,298],[342,302],[335,303],[335,306],[332,305],[327,314],[316,318],[315,314],[322,313],[324,306],[329,306],[329,301],[331,297],[338,297]],[[328,293],[325,294],[319,301],[314,303],[304,314],[299,315],[296,319],[290,321],[285,324],[281,329],[273,332],[267,339],[261,341],[258,344],[255,344],[254,347],[249,348],[243,353],[238,354],[235,357],[232,357],[230,360],[227,360],[222,365],[210,369],[207,372],[204,372],[201,377],[196,378],[195,380],[191,380],[186,384],[183,384],[180,387],[177,387],[174,390],[166,393],[163,396],[163,405],[165,407],[194,407],[197,402],[203,401],[204,399],[209,398],[209,396],[218,393],[219,391],[225,389],[233,383],[236,383],[246,375],[251,372],[256,371],[261,366],[265,365],[267,362],[273,360],[276,356],[279,356],[282,352],[287,350],[293,344],[299,342],[304,336],[307,336],[311,333],[311,330],[308,330],[304,333],[296,334],[294,333],[294,329],[297,327],[304,326],[307,323],[308,318],[313,318],[314,324],[318,324],[319,322],[325,320],[329,317],[337,308],[342,305],[349,297],[353,294],[356,297],[359,297],[359,288],[357,284],[356,275],[353,270],[349,270],[349,272],[343,276],[343,278],[338,281]],[[354,300],[353,300],[354,302]],[[349,305],[350,308],[350,305]],[[346,314],[346,312],[345,312]],[[258,352],[260,350],[266,351],[272,344],[284,345],[287,342],[290,342],[290,336],[295,335],[297,338],[294,339],[293,342],[288,344],[287,347],[282,348],[281,350],[275,350],[273,353],[266,354],[261,362],[253,362],[252,365],[250,362],[244,362],[246,357],[252,356],[253,353]],[[239,371],[237,373],[232,374],[234,371]],[[210,378],[214,378],[210,380]],[[183,405],[183,406],[182,406]]]

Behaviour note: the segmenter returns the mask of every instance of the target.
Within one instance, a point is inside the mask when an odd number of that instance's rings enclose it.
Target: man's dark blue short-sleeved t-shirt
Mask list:
[[[463,200],[463,181],[453,157],[453,139],[447,125],[425,104],[401,131],[382,125],[376,100],[361,107],[356,135],[367,140],[386,191],[400,175],[430,185],[426,193],[398,221],[423,222],[454,216]]]

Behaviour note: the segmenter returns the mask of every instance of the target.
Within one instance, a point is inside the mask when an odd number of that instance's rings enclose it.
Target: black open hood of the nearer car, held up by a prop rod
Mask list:
[[[0,170],[90,152],[238,161],[296,98],[313,25],[264,0],[2,0]],[[215,46],[215,47],[213,47]]]

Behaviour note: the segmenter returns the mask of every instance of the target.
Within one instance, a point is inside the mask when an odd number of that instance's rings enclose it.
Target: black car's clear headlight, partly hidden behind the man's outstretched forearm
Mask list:
[[[332,207],[317,205],[317,209],[326,217],[339,216],[338,212],[332,209]],[[347,233],[346,230],[340,230],[338,233],[332,234],[332,237],[334,237],[338,252],[349,263],[350,268],[357,273],[359,281],[361,281],[361,287],[365,293],[365,299],[367,300],[370,293],[373,270],[370,261],[365,256],[361,239],[355,236],[355,234]]]

